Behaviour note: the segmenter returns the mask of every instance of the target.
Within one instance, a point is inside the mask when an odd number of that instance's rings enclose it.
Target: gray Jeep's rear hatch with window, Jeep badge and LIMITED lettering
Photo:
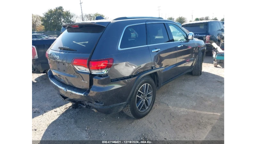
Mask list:
[[[108,23],[104,23],[105,26],[95,23],[68,25],[46,54],[54,80],[75,88],[89,89],[88,58]]]

